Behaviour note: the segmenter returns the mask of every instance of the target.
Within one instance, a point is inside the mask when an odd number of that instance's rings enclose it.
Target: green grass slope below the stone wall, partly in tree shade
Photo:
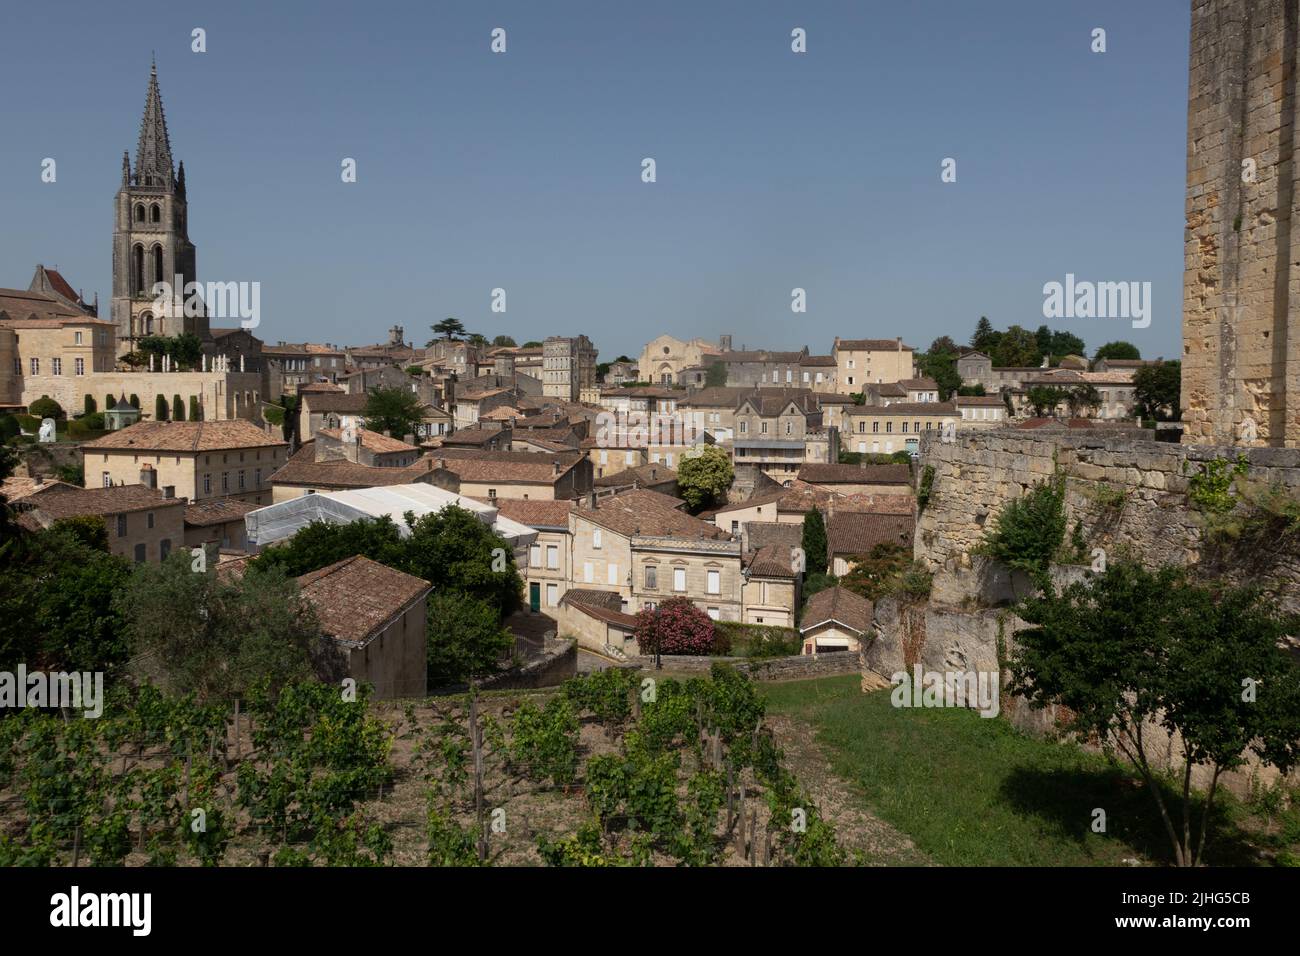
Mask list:
[[[959,709],[898,709],[857,675],[760,684],[772,713],[807,721],[835,773],[881,819],[948,866],[1167,864],[1169,840],[1136,774],[1070,743]],[[1210,865],[1258,862],[1225,801]],[[1092,831],[1093,810],[1106,832]]]

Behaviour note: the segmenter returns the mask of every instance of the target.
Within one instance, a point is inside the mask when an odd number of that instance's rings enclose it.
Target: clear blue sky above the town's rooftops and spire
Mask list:
[[[660,332],[924,349],[980,315],[1036,328],[1044,282],[1074,273],[1152,282],[1153,320],[1057,326],[1089,351],[1124,338],[1175,358],[1188,8],[8,4],[0,285],[57,264],[107,313],[112,202],[156,51],[199,277],[261,282],[269,342],[399,324],[422,343],[456,316],[520,342],[585,332],[602,359]]]

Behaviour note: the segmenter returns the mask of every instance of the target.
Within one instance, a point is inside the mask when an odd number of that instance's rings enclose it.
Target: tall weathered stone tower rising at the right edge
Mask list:
[[[1192,0],[1187,442],[1242,441],[1249,419],[1260,444],[1300,447],[1297,21],[1295,0]]]

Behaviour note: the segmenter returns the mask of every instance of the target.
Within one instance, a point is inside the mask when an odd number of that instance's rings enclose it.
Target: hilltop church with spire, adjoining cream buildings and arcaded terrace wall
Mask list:
[[[0,289],[0,412],[52,398],[72,418],[130,397],[144,420],[260,421],[261,341],[211,328],[209,307],[159,308],[155,282],[198,282],[188,235],[185,165],[173,166],[157,66],[150,70],[135,150],[122,156],[113,219],[112,313],[86,302],[58,272],[38,265],[27,289]],[[233,284],[229,284],[233,285]],[[190,312],[190,315],[186,315]],[[150,360],[146,337],[198,337],[192,363]]]

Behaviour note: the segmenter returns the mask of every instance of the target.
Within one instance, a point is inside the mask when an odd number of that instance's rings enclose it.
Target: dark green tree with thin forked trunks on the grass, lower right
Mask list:
[[[1069,730],[1138,767],[1179,866],[1202,861],[1223,773],[1248,753],[1283,774],[1300,757],[1300,666],[1280,649],[1300,622],[1275,596],[1115,562],[1017,614],[1030,627],[1015,632],[1010,692],[1060,706]],[[1182,748],[1176,795],[1153,756],[1156,727]],[[1196,765],[1212,771],[1204,799],[1192,791]]]

